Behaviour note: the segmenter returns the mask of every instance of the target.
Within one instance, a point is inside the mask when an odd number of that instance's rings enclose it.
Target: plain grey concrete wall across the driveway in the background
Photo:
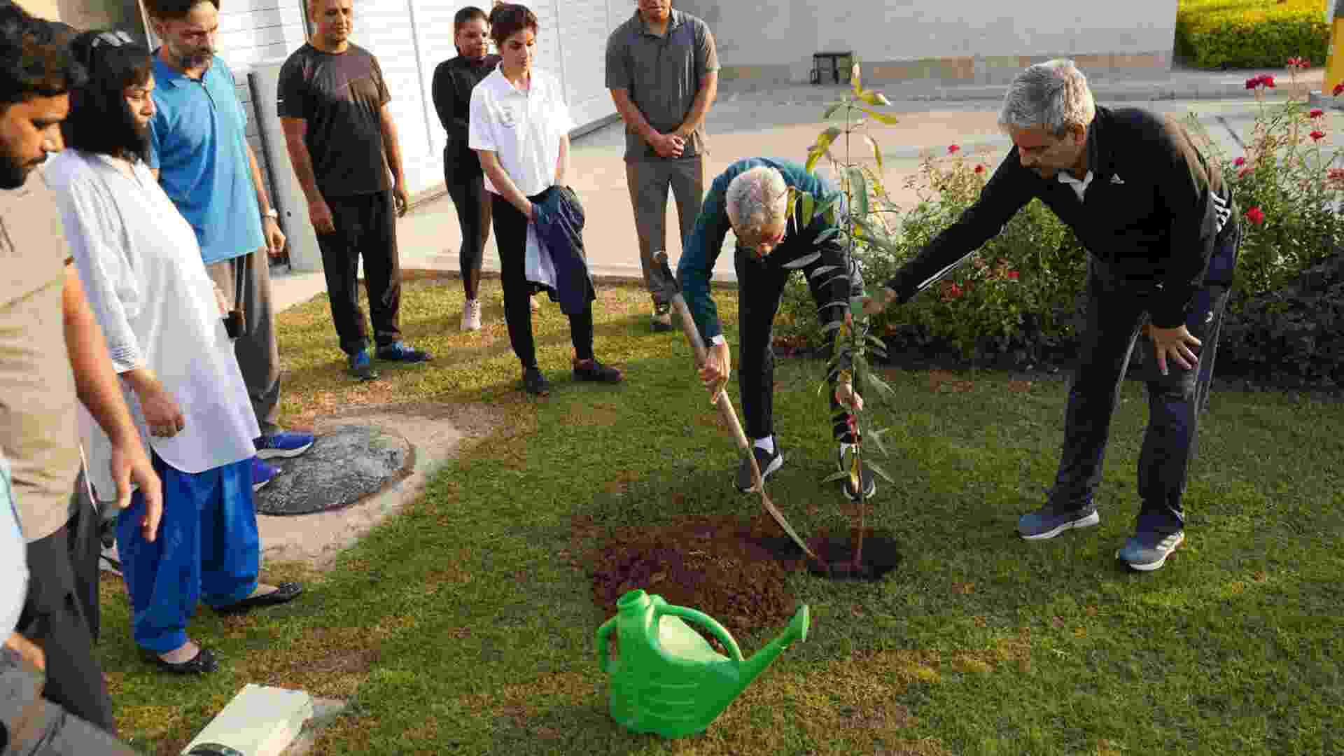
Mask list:
[[[726,82],[804,83],[852,50],[874,79],[1000,83],[1071,56],[1089,74],[1165,75],[1177,0],[673,0],[715,34]]]

